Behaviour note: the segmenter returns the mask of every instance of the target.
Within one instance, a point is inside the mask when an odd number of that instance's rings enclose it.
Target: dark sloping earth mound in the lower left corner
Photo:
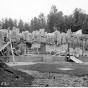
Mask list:
[[[0,62],[0,87],[30,87],[34,77]]]

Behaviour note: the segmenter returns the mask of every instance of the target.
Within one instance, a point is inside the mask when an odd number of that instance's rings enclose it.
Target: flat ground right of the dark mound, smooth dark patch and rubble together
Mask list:
[[[54,62],[13,66],[13,68],[34,77],[31,85],[33,87],[88,87],[88,65]]]

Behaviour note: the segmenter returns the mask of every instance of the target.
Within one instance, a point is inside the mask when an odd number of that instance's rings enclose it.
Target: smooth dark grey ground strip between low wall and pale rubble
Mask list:
[[[33,65],[13,66],[15,69],[35,70],[39,72],[69,74],[72,76],[85,76],[88,75],[88,65],[76,63],[38,63]],[[59,68],[72,68],[74,70],[60,70]]]

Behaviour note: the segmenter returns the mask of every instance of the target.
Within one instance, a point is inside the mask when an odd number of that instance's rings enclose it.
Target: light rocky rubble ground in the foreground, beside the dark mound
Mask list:
[[[33,87],[88,87],[88,76],[78,77],[68,74],[22,71],[35,78],[31,85]]]

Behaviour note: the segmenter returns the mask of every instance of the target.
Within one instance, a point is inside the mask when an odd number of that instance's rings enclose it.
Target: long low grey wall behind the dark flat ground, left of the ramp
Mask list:
[[[12,62],[12,57],[9,58],[9,62]],[[65,61],[65,57],[40,55],[40,56],[15,56],[16,62],[54,62]]]

